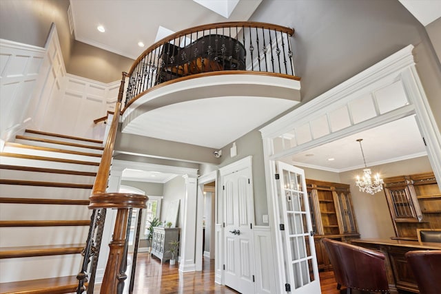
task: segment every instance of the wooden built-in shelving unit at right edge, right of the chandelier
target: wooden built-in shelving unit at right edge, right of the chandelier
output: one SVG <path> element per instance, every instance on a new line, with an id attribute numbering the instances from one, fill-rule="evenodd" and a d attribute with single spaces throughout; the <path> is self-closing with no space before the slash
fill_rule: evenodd
<path id="1" fill-rule="evenodd" d="M 417 240 L 416 229 L 441 228 L 441 191 L 432 172 L 383 181 L 396 238 Z"/>

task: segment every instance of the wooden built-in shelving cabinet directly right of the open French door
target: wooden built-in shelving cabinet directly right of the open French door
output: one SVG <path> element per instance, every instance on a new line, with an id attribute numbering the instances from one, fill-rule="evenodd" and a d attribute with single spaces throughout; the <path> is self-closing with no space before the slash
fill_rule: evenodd
<path id="1" fill-rule="evenodd" d="M 315 233 L 316 255 L 319 269 L 330 269 L 331 264 L 322 238 L 350 242 L 360 238 L 353 213 L 349 185 L 337 182 L 306 180 L 312 229 Z"/>

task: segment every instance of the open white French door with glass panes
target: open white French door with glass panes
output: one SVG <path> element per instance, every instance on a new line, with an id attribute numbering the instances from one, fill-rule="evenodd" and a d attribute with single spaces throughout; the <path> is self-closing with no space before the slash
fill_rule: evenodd
<path id="1" fill-rule="evenodd" d="M 296 294 L 320 293 L 320 280 L 311 215 L 302 169 L 278 162 L 280 180 L 278 198 L 281 213 L 282 238 L 287 292 Z"/>

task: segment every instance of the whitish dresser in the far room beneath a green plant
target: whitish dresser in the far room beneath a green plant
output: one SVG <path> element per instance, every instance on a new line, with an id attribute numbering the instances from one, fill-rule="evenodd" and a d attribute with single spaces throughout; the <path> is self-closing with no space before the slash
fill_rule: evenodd
<path id="1" fill-rule="evenodd" d="M 172 258 L 172 253 L 167 252 L 170 246 L 169 243 L 174 240 L 179 241 L 180 231 L 181 231 L 180 228 L 163 228 L 163 227 L 153 228 L 151 254 L 159 258 L 161 260 L 161 264 Z M 178 253 L 176 253 L 175 258 L 178 258 Z"/>

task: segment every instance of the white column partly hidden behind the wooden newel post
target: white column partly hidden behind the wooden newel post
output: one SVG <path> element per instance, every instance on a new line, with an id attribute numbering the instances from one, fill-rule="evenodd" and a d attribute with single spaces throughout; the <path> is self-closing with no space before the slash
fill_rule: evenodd
<path id="1" fill-rule="evenodd" d="M 107 192 L 118 192 L 121 185 L 121 176 L 123 176 L 123 169 L 111 169 Z M 101 249 L 99 251 L 98 264 L 96 266 L 95 283 L 101 284 L 103 282 L 105 266 L 109 258 L 109 243 L 112 240 L 112 233 L 115 225 L 117 209 L 107 209 L 105 216 L 105 224 L 103 229 L 103 237 L 101 240 Z M 127 283 L 126 283 L 127 284 Z"/>

